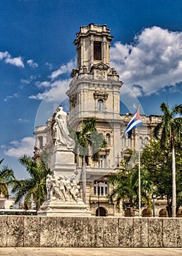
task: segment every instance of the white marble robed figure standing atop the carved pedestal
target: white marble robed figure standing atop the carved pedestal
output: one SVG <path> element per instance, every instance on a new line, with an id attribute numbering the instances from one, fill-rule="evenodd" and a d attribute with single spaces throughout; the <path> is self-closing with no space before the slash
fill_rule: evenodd
<path id="1" fill-rule="evenodd" d="M 69 137 L 69 131 L 67 128 L 67 113 L 64 112 L 63 107 L 59 107 L 55 116 L 55 124 L 53 130 L 56 135 L 55 146 L 67 146 L 68 149 L 74 148 L 74 140 Z"/>

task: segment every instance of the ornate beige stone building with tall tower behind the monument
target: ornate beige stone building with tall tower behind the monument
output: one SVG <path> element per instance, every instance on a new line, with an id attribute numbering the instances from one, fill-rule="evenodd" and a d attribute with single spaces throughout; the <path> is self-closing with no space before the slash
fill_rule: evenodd
<path id="1" fill-rule="evenodd" d="M 122 82 L 118 72 L 110 67 L 110 42 L 113 37 L 105 25 L 89 24 L 81 26 L 76 34 L 74 44 L 77 50 L 77 67 L 72 70 L 72 81 L 69 84 L 69 128 L 79 130 L 85 118 L 96 118 L 96 129 L 107 141 L 107 147 L 99 151 L 99 161 L 88 159 L 86 166 L 86 204 L 91 214 L 102 216 L 123 216 L 115 206 L 107 203 L 110 186 L 107 183 L 108 173 L 115 172 L 122 162 L 128 148 L 138 148 L 148 143 L 153 127 L 160 116 L 142 116 L 138 140 L 137 129 L 132 138 L 124 136 L 126 125 L 132 114 L 120 114 L 120 91 Z M 36 127 L 34 135 L 36 150 L 52 152 L 51 118 L 45 126 Z M 81 162 L 78 162 L 81 167 Z M 82 184 L 80 184 L 82 187 Z M 159 215 L 159 213 L 156 213 Z"/>

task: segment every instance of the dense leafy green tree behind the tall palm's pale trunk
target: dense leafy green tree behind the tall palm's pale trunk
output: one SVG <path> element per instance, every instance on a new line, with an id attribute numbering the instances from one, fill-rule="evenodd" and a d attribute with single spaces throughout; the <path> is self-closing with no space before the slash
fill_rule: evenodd
<path id="1" fill-rule="evenodd" d="M 176 146 L 176 199 L 178 208 L 182 206 L 182 156 L 181 150 Z M 168 216 L 172 217 L 172 157 L 170 148 L 161 148 L 160 140 L 152 139 L 145 147 L 140 159 L 141 167 L 148 170 L 150 179 L 153 181 L 153 193 L 159 199 L 167 200 Z"/>

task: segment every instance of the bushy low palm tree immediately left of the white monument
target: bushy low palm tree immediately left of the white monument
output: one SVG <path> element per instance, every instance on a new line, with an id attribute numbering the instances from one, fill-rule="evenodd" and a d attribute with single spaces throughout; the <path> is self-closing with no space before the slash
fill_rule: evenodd
<path id="1" fill-rule="evenodd" d="M 20 157 L 19 162 L 26 167 L 30 178 L 14 184 L 12 192 L 16 193 L 15 203 L 24 200 L 25 207 L 30 208 L 33 200 L 38 211 L 46 198 L 46 177 L 50 174 L 50 168 L 42 157 L 35 162 L 31 157 L 24 155 Z"/>

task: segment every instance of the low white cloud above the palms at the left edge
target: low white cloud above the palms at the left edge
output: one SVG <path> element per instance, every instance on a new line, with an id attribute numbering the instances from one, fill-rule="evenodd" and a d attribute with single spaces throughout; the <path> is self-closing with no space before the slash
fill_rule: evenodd
<path id="1" fill-rule="evenodd" d="M 21 157 L 23 154 L 32 156 L 34 151 L 35 140 L 33 137 L 25 137 L 21 140 L 13 140 L 10 146 L 1 146 L 1 148 L 6 148 L 4 154 L 9 157 Z"/>

